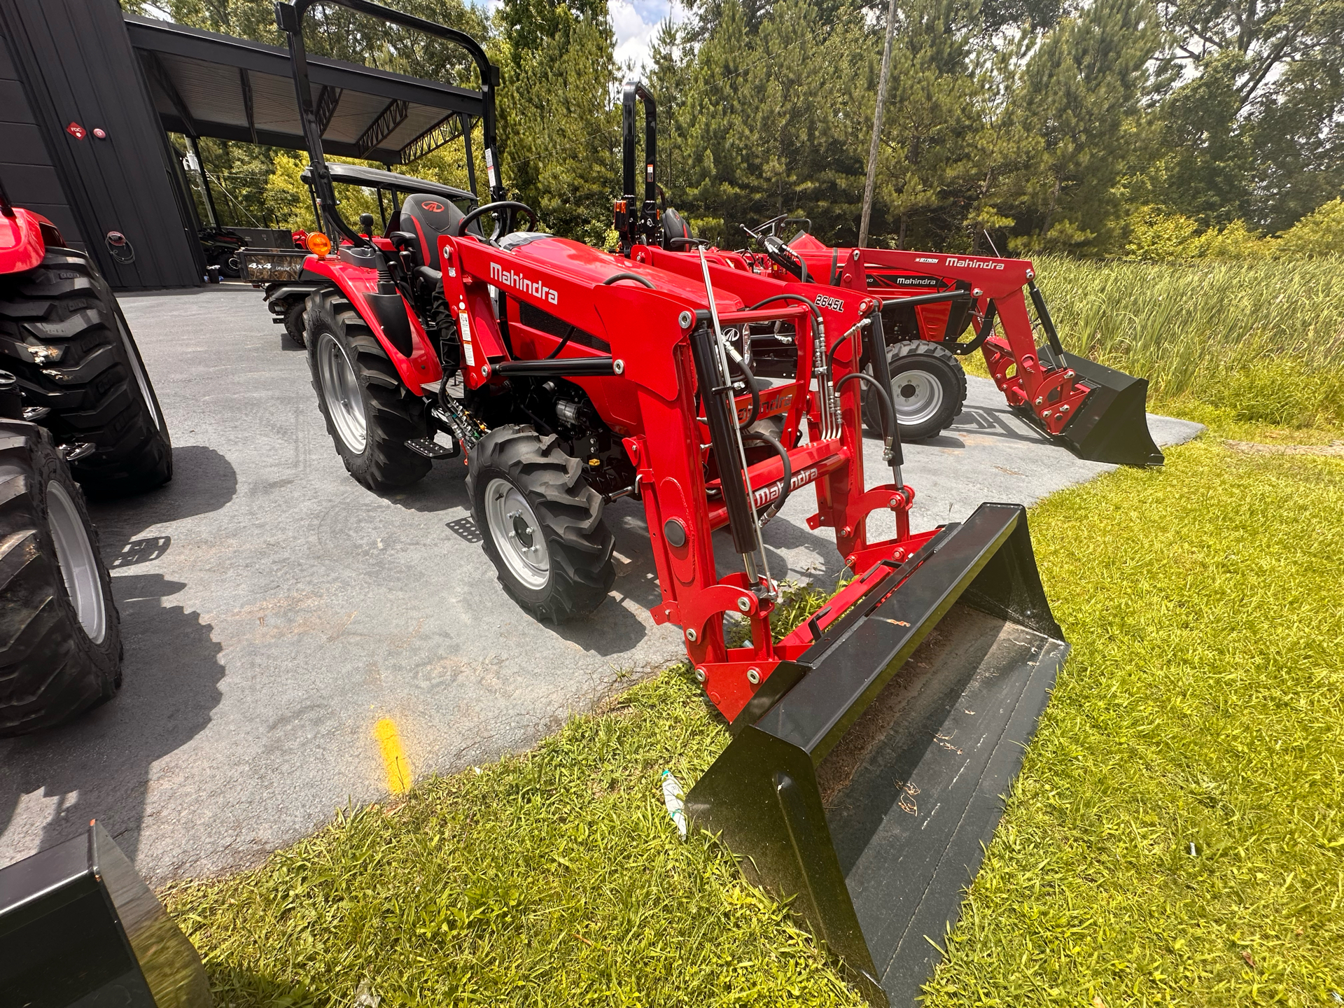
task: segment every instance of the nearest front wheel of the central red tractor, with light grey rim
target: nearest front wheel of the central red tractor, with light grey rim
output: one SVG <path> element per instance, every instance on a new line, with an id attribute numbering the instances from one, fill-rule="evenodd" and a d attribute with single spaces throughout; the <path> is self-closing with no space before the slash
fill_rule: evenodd
<path id="1" fill-rule="evenodd" d="M 512 519 L 516 542 L 526 548 L 540 538 L 544 547 L 546 570 L 532 571 L 534 583 L 524 582 L 509 566 L 504 551 L 519 558 L 520 548 L 497 542 L 497 523 L 489 516 L 489 497 L 504 485 L 513 488 L 531 511 L 530 516 Z M 515 423 L 492 430 L 472 449 L 466 496 L 485 555 L 519 605 L 538 620 L 558 624 L 585 617 L 602 605 L 616 581 L 616 540 L 602 521 L 602 495 L 589 487 L 583 464 L 564 454 L 554 434 L 542 437 Z"/>

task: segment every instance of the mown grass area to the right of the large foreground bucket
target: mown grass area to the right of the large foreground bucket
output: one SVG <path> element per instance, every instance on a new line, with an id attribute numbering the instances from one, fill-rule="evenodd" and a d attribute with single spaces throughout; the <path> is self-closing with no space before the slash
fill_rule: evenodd
<path id="1" fill-rule="evenodd" d="M 1032 532 L 1074 652 L 930 1004 L 1333 1004 L 1344 462 L 1196 442 Z"/>

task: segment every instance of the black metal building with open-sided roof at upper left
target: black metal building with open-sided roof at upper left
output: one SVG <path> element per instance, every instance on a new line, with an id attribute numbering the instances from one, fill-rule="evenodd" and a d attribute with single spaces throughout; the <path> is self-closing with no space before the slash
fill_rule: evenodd
<path id="1" fill-rule="evenodd" d="M 465 138 L 470 171 L 480 91 L 320 58 L 309 75 L 328 155 L 406 165 Z M 203 282 L 168 132 L 304 149 L 288 52 L 116 0 L 0 0 L 0 176 L 121 290 Z"/>

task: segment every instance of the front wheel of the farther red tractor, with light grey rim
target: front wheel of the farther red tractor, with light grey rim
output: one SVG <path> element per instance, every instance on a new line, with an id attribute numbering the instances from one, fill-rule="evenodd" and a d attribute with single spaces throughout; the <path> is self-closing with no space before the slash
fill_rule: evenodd
<path id="1" fill-rule="evenodd" d="M 887 368 L 902 441 L 937 437 L 966 405 L 966 372 L 956 355 L 937 343 L 903 340 L 887 347 Z M 866 370 L 872 374 L 872 368 Z M 863 423 L 872 434 L 882 435 L 882 407 L 867 388 Z"/>

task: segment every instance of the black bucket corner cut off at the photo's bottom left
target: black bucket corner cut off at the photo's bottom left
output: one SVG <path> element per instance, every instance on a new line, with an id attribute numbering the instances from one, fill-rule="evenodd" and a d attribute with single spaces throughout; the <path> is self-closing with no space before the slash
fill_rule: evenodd
<path id="1" fill-rule="evenodd" d="M 191 942 L 90 823 L 0 868 L 0 1004 L 208 1008 L 211 997 Z"/>

